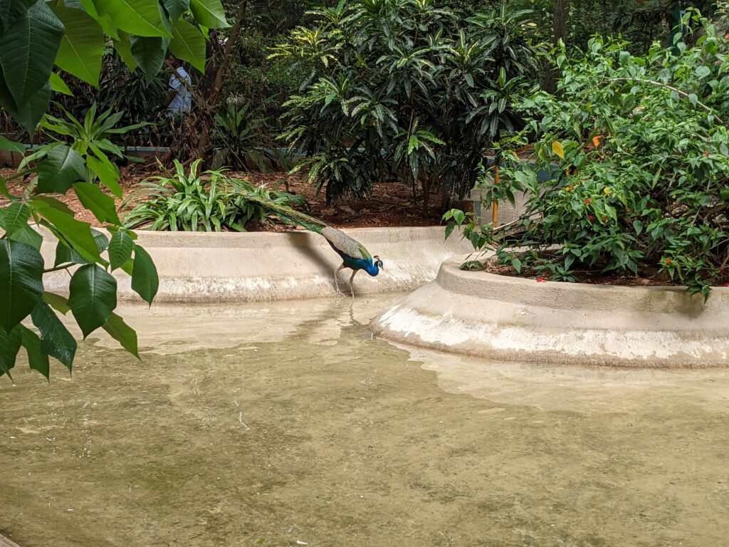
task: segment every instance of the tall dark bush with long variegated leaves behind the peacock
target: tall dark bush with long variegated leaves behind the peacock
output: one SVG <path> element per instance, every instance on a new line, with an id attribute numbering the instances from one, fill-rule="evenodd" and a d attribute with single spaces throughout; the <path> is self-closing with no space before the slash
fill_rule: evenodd
<path id="1" fill-rule="evenodd" d="M 492 142 L 518 128 L 511 104 L 534 70 L 528 12 L 448 4 L 340 2 L 273 53 L 311 68 L 284 104 L 284 138 L 328 202 L 395 173 L 422 185 L 424 206 L 439 182 L 463 195 Z"/>

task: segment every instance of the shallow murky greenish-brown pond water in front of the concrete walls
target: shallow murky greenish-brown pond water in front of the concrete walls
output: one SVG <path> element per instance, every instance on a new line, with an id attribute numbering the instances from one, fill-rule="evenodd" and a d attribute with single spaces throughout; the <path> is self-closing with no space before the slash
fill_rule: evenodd
<path id="1" fill-rule="evenodd" d="M 146 308 L 0 381 L 21 547 L 729 546 L 729 373 L 373 340 L 397 297 Z M 300 543 L 297 543 L 300 542 Z"/>

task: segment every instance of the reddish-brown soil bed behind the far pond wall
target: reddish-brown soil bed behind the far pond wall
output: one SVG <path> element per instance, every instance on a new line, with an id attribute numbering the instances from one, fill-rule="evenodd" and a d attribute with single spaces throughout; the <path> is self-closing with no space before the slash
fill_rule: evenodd
<path id="1" fill-rule="evenodd" d="M 0 176 L 5 178 L 15 174 L 13 169 L 0 169 Z M 141 171 L 134 167 L 122 169 L 120 183 L 124 190 L 125 198 L 134 196 L 135 185 L 147 176 L 158 173 Z M 313 185 L 300 174 L 286 174 L 283 172 L 273 173 L 236 173 L 232 176 L 239 176 L 254 182 L 255 185 L 266 185 L 275 190 L 286 190 L 293 194 L 305 195 L 309 206 L 309 212 L 313 217 L 321 218 L 327 224 L 336 228 L 370 228 L 378 226 L 431 226 L 440 223 L 441 200 L 439 195 L 431 196 L 431 206 L 427 214 L 422 212 L 422 193 L 418 191 L 413 199 L 413 190 L 402 182 L 375 182 L 373 195 L 370 199 L 349 200 L 343 199 L 332 207 L 327 207 L 324 193 L 316 195 Z M 26 187 L 23 180 L 8 182 L 11 193 L 20 195 Z M 90 222 L 93 226 L 101 226 L 101 223 L 85 209 L 74 192 L 66 195 L 53 195 L 53 197 L 66 203 L 76 213 L 76 218 L 83 222 Z M 143 194 L 139 194 L 141 199 Z M 115 198 L 116 199 L 116 198 Z M 122 206 L 122 201 L 116 199 L 117 206 Z M 7 200 L 0 199 L 0 207 L 7 206 Z M 129 206 L 121 209 L 121 215 L 129 210 Z M 288 228 L 268 222 L 266 225 L 252 224 L 247 226 L 252 231 L 284 231 Z"/>

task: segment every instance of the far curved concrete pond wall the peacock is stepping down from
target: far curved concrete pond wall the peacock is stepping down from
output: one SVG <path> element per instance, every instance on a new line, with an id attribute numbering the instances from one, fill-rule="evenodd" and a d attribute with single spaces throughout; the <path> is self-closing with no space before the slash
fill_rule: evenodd
<path id="1" fill-rule="evenodd" d="M 440 263 L 467 252 L 469 244 L 451 238 L 445 228 L 359 228 L 344 230 L 380 255 L 385 270 L 377 277 L 359 272 L 354 278 L 356 295 L 411 291 L 435 279 Z M 315 233 L 203 233 L 137 231 L 141 244 L 157 265 L 159 302 L 232 302 L 284 300 L 334 295 L 335 268 L 340 257 Z M 43 246 L 47 264 L 53 263 L 55 241 Z M 343 291 L 348 290 L 350 270 L 340 272 Z M 130 278 L 114 272 L 120 299 L 138 299 Z M 47 275 L 48 290 L 67 290 L 65 271 Z"/>

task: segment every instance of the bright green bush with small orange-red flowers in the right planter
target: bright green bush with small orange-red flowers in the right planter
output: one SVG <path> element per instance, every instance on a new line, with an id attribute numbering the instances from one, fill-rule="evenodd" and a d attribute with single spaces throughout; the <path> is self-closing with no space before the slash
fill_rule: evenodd
<path id="1" fill-rule="evenodd" d="M 494 244 L 502 263 L 555 280 L 658 270 L 707 298 L 727 279 L 729 42 L 698 12 L 684 25 L 693 46 L 678 35 L 674 48 L 636 57 L 596 37 L 585 55 L 559 55 L 558 97 L 521 104 L 535 163 L 483 181 L 487 206 L 529 193 L 521 233 L 493 239 L 471 224 L 475 247 Z M 555 177 L 539 182 L 539 169 Z"/>

